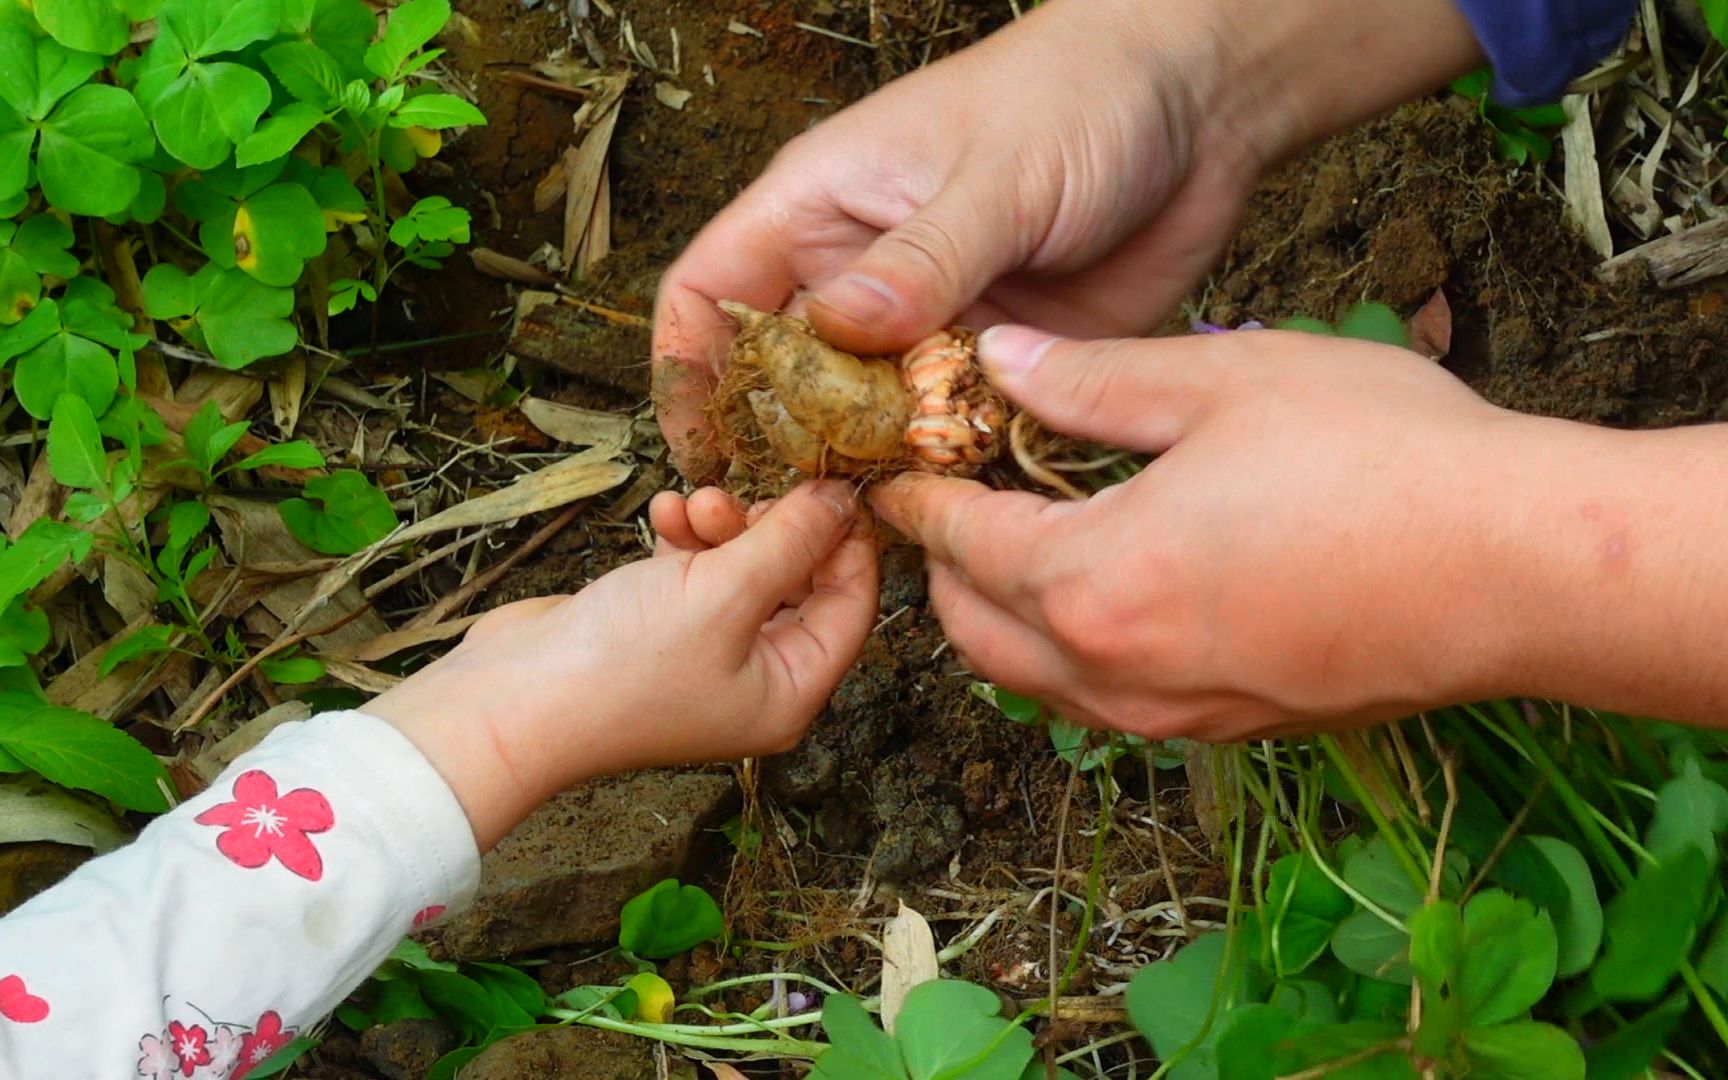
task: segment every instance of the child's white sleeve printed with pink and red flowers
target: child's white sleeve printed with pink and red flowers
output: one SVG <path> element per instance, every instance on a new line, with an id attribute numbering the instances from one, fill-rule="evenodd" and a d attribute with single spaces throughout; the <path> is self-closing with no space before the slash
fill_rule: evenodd
<path id="1" fill-rule="evenodd" d="M 479 864 L 399 731 L 361 712 L 283 724 L 0 919 L 0 1080 L 242 1078 L 463 907 Z"/>

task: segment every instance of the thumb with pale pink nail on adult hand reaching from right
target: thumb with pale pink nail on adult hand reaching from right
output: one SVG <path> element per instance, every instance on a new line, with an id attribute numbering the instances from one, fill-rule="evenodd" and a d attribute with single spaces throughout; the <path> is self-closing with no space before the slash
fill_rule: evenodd
<path id="1" fill-rule="evenodd" d="M 1206 335 L 1071 340 L 1030 327 L 978 335 L 990 382 L 1051 430 L 1163 453 L 1217 396 Z"/>

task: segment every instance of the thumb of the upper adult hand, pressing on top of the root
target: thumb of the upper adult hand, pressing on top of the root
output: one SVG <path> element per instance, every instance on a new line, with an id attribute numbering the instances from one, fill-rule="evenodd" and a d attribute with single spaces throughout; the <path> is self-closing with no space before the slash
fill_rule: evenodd
<path id="1" fill-rule="evenodd" d="M 897 353 L 943 328 L 1025 257 L 1009 225 L 1011 190 L 957 178 L 878 237 L 809 297 L 809 318 L 835 346 Z"/>

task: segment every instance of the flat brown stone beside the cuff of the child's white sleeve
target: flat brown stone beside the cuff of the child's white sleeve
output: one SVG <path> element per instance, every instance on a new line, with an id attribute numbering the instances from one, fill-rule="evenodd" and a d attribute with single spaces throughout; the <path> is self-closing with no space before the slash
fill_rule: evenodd
<path id="1" fill-rule="evenodd" d="M 613 940 L 631 897 L 700 876 L 738 804 L 722 772 L 632 772 L 563 791 L 480 861 L 473 907 L 427 937 L 463 961 Z"/>

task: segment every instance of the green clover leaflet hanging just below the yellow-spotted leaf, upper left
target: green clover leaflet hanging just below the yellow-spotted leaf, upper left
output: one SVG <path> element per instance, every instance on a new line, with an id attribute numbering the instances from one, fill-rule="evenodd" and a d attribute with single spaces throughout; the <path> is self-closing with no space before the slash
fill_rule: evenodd
<path id="1" fill-rule="evenodd" d="M 294 290 L 261 285 L 240 270 L 207 263 L 187 276 L 178 266 L 152 266 L 143 275 L 143 302 L 150 318 L 168 320 L 209 349 L 221 366 L 244 368 L 266 356 L 282 356 L 299 340 Z"/>

